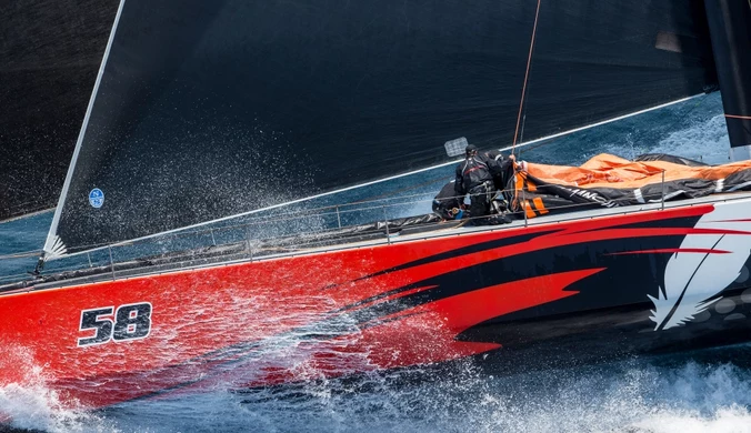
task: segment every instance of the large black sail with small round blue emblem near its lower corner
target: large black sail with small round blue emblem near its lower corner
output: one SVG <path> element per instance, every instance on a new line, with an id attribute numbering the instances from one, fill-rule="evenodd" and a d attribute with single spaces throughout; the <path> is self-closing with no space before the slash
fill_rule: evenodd
<path id="1" fill-rule="evenodd" d="M 535 1 L 127 0 L 48 258 L 511 142 Z M 703 2 L 542 1 L 523 138 L 715 84 Z"/>

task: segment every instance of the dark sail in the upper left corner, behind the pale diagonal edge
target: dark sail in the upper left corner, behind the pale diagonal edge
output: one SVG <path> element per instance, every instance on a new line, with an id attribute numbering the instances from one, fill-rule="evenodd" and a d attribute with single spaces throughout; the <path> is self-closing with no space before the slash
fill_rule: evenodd
<path id="1" fill-rule="evenodd" d="M 3 2 L 0 221 L 54 208 L 118 3 Z"/>

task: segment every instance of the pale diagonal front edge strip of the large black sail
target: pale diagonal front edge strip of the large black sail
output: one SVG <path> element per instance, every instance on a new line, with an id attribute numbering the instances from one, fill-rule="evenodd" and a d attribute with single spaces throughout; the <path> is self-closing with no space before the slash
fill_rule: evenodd
<path id="1" fill-rule="evenodd" d="M 86 129 L 89 125 L 89 119 L 91 118 L 91 111 L 93 111 L 93 104 L 97 99 L 97 92 L 99 91 L 99 84 L 101 83 L 102 75 L 104 74 L 104 68 L 107 67 L 107 59 L 110 56 L 110 50 L 112 48 L 112 42 L 114 41 L 114 33 L 118 30 L 118 23 L 120 22 L 120 16 L 122 13 L 122 8 L 126 4 L 126 0 L 120 0 L 118 6 L 118 12 L 114 16 L 114 22 L 112 23 L 112 31 L 110 32 L 110 38 L 107 41 L 107 48 L 104 48 L 104 56 L 102 56 L 102 63 L 99 67 L 99 72 L 97 73 L 97 80 L 94 81 L 93 91 L 91 92 L 91 98 L 89 99 L 89 105 L 86 109 L 86 115 L 83 117 L 83 123 L 81 124 L 81 131 L 79 131 L 78 140 L 76 141 L 76 149 L 73 150 L 73 157 L 70 160 L 70 167 L 68 167 L 68 173 L 66 174 L 66 181 L 62 184 L 62 190 L 60 191 L 60 199 L 58 200 L 58 207 L 54 210 L 54 216 L 52 216 L 52 223 L 50 224 L 50 231 L 47 233 L 47 240 L 44 241 L 44 248 L 42 249 L 42 255 L 50 253 L 54 255 L 54 251 L 60 251 L 59 244 L 62 243 L 60 238 L 57 235 L 58 223 L 60 222 L 60 214 L 62 213 L 62 208 L 68 197 L 68 189 L 70 188 L 70 182 L 73 179 L 73 172 L 76 171 L 76 162 L 78 160 L 78 154 L 81 151 L 81 145 L 83 143 L 83 137 L 86 135 Z M 44 258 L 44 260 L 47 260 Z"/>

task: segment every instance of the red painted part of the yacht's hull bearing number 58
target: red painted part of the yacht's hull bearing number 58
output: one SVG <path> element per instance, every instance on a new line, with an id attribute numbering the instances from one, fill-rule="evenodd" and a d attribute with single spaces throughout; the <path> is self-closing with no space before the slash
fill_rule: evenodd
<path id="1" fill-rule="evenodd" d="M 96 407 L 228 377 L 234 385 L 267 385 L 493 351 L 504 342 L 458 336 L 540 305 L 560 304 L 565 312 L 563 301 L 575 301 L 578 283 L 612 268 L 598 258 L 668 256 L 699 230 L 692 222 L 713 209 L 703 204 L 8 294 L 0 296 L 0 385 L 28 382 L 33 375 L 23 366 L 43 366 L 48 386 Z M 592 250 L 597 256 L 577 269 L 531 263 L 532 271 L 511 281 L 494 281 L 488 271 L 529 253 L 634 239 L 643 240 L 640 248 Z M 650 246 L 650 239 L 672 243 Z M 459 282 L 447 276 L 460 271 L 468 273 Z M 143 303 L 151 305 L 148 335 L 117 340 L 116 333 L 79 346 L 96 334 L 93 328 L 81 330 L 82 312 L 112 308 L 97 320 L 114 321 L 117 329 L 119 306 Z M 639 309 L 644 321 L 648 310 Z M 123 335 L 136 335 L 138 326 L 123 328 Z"/>

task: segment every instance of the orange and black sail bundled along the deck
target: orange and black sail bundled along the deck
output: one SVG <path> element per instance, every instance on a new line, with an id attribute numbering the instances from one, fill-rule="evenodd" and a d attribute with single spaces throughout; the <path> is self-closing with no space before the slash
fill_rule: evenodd
<path id="1" fill-rule="evenodd" d="M 509 181 L 511 209 L 534 218 L 751 190 L 751 161 L 707 165 L 667 154 L 629 161 L 601 153 L 580 167 L 527 163 Z"/>

